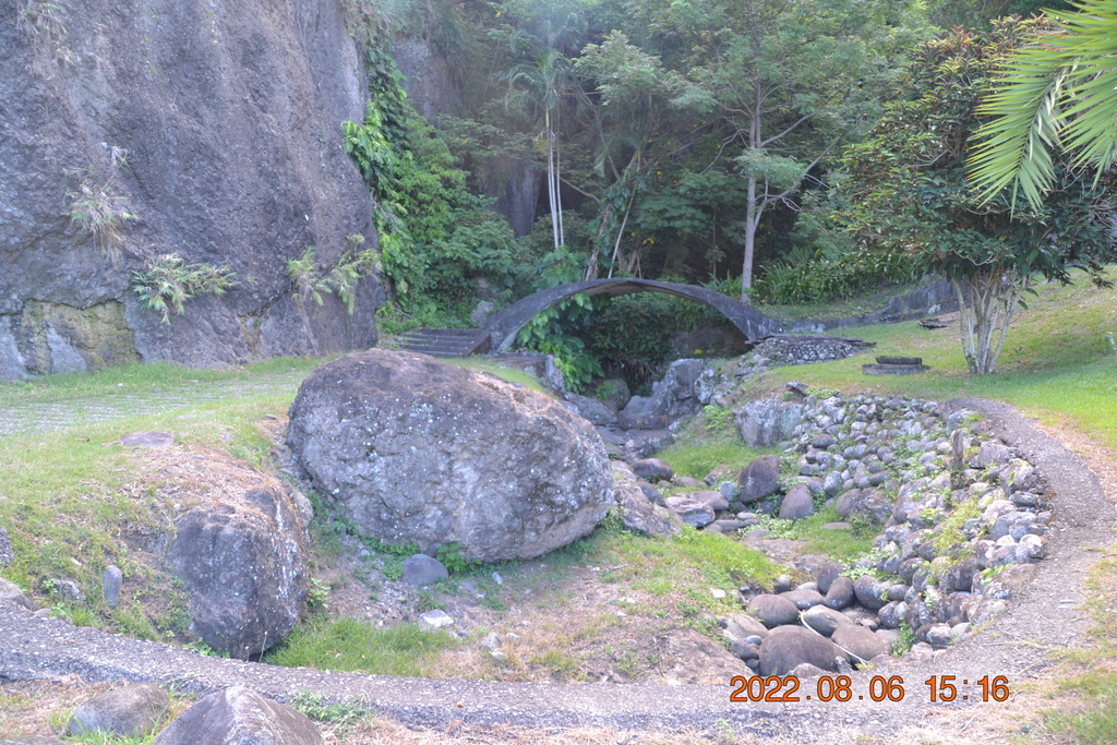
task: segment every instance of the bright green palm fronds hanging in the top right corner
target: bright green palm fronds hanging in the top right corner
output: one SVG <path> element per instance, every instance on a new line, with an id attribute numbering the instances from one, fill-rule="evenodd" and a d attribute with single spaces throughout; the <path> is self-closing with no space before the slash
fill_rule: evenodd
<path id="1" fill-rule="evenodd" d="M 1012 189 L 1038 209 L 1056 183 L 1053 151 L 1098 175 L 1117 157 L 1117 0 L 1049 11 L 1053 32 L 1009 57 L 980 109 L 996 118 L 977 133 L 970 180 L 987 201 Z M 1096 181 L 1095 181 L 1096 183 Z"/>

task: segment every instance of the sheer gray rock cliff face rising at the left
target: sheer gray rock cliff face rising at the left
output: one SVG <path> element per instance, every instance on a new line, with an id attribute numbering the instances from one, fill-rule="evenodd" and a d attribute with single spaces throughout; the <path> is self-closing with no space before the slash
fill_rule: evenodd
<path id="1" fill-rule="evenodd" d="M 375 247 L 365 96 L 337 0 L 0 0 L 0 379 L 375 344 L 374 276 L 350 315 L 287 275 Z M 166 254 L 235 284 L 164 324 L 132 284 Z"/>

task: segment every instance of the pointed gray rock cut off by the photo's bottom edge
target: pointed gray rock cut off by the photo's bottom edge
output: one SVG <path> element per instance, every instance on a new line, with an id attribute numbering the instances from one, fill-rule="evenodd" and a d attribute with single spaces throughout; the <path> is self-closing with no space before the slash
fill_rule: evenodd
<path id="1" fill-rule="evenodd" d="M 155 745 L 319 745 L 314 723 L 240 686 L 210 694 L 171 723 Z"/>

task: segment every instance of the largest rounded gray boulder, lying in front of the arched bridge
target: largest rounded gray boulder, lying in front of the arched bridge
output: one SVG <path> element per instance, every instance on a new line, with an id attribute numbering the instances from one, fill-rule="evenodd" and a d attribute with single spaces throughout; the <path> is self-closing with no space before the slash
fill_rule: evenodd
<path id="1" fill-rule="evenodd" d="M 590 533 L 613 502 L 593 427 L 553 399 L 422 354 L 370 350 L 318 367 L 287 442 L 365 536 L 532 558 Z"/>

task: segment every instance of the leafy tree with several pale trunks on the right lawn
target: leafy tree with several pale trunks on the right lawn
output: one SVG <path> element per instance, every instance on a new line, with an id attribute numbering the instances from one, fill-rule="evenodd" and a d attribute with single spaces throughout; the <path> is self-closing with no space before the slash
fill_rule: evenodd
<path id="1" fill-rule="evenodd" d="M 966 180 L 983 85 L 1033 21 L 1005 19 L 986 34 L 954 31 L 915 52 L 900 97 L 844 159 L 852 206 L 842 219 L 861 245 L 905 251 L 954 283 L 970 370 L 991 373 L 1030 278 L 1067 280 L 1080 266 L 1100 277 L 1113 257 L 1105 206 L 1069 169 L 1042 210 L 1014 212 L 1005 195 L 982 201 Z"/>

